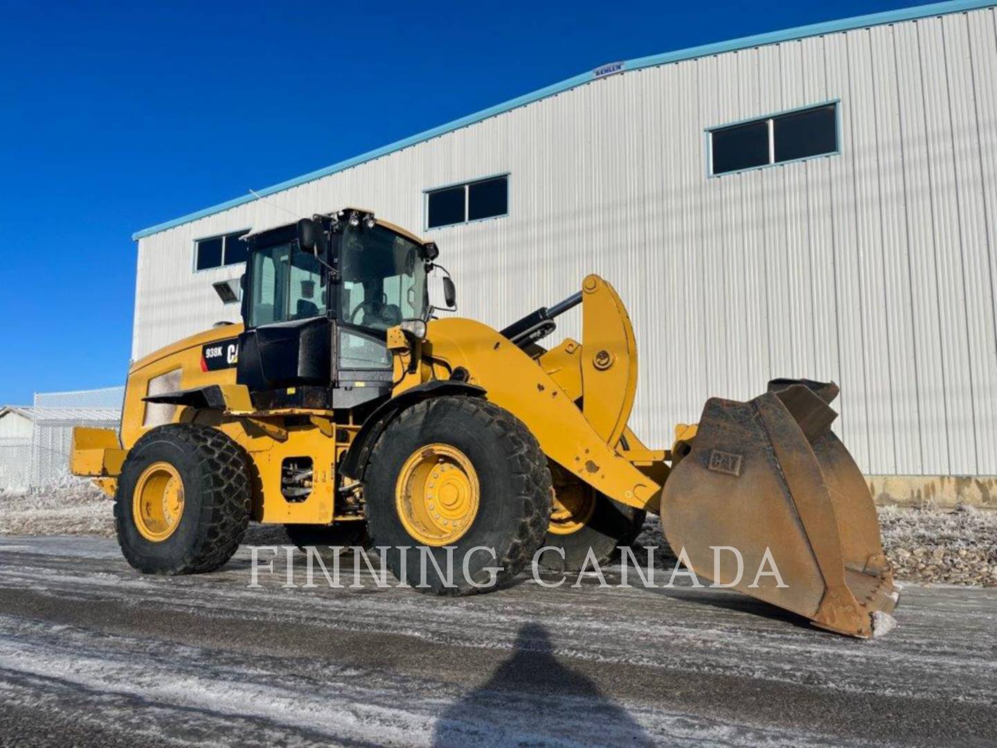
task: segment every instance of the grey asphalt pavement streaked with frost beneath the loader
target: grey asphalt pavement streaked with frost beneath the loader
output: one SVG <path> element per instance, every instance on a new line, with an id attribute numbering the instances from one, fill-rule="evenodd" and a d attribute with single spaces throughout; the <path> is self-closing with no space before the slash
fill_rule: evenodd
<path id="1" fill-rule="evenodd" d="M 907 586 L 861 641 L 720 589 L 452 599 L 280 559 L 250 587 L 246 548 L 161 577 L 0 537 L 0 745 L 997 745 L 997 589 Z"/>

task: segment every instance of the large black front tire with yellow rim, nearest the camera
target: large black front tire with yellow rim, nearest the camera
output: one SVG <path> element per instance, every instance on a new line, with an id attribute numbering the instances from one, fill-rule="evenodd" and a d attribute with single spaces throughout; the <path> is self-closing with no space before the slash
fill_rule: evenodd
<path id="1" fill-rule="evenodd" d="M 444 466 L 446 475 L 443 480 L 425 475 L 420 485 L 426 492 L 417 496 L 407 477 L 421 470 L 412 467 L 418 466 L 420 459 L 426 461 L 432 475 L 436 475 L 438 465 Z M 505 585 L 532 561 L 543 543 L 552 496 L 546 459 L 519 419 L 486 400 L 444 396 L 403 411 L 378 440 L 365 476 L 372 545 L 389 547 L 382 561 L 400 581 L 420 591 L 459 595 Z M 458 519 L 449 527 L 460 526 L 461 530 L 450 530 L 451 537 L 444 527 L 446 517 L 439 520 L 441 525 L 432 519 L 433 501 L 448 501 L 442 493 L 448 476 L 457 476 L 451 487 L 454 505 L 448 507 L 457 506 L 458 495 L 462 497 L 460 506 L 474 507 L 473 513 L 469 510 L 464 515 L 455 510 Z M 432 488 L 433 480 L 439 481 L 436 489 Z M 433 491 L 439 491 L 439 496 Z M 412 509 L 419 502 L 425 502 L 430 512 L 422 519 Z M 438 535 L 428 535 L 431 533 Z M 440 540 L 431 543 L 427 538 Z M 495 558 L 489 552 L 476 551 L 481 547 L 494 550 Z M 447 585 L 448 579 L 437 572 L 428 557 L 425 564 L 420 562 L 427 554 L 446 574 L 448 548 L 453 549 L 452 585 Z M 490 567 L 500 567 L 494 584 Z"/>

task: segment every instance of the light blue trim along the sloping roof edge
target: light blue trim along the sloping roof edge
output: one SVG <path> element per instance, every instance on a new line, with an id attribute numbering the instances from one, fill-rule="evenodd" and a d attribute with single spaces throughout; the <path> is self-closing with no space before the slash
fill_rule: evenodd
<path id="1" fill-rule="evenodd" d="M 432 130 L 427 130 L 418 135 L 414 135 L 411 138 L 406 138 L 401 141 L 396 141 L 383 148 L 375 149 L 374 151 L 368 151 L 366 154 L 361 154 L 352 159 L 347 159 L 346 161 L 341 161 L 338 164 L 333 164 L 331 167 L 326 167 L 325 169 L 319 169 L 315 172 L 310 172 L 301 177 L 296 177 L 293 180 L 287 180 L 286 182 L 281 182 L 279 185 L 274 185 L 273 187 L 266 187 L 264 189 L 257 189 L 256 193 L 260 196 L 266 196 L 273 194 L 274 192 L 279 192 L 290 187 L 298 187 L 299 185 L 304 185 L 307 182 L 312 182 L 314 180 L 321 179 L 323 177 L 328 177 L 329 175 L 336 174 L 337 172 L 342 172 L 351 167 L 356 167 L 368 161 L 373 161 L 374 159 L 379 159 L 382 156 L 387 156 L 388 154 L 394 153 L 395 151 L 401 151 L 404 148 L 410 146 L 415 146 L 423 141 L 428 141 L 433 138 L 437 138 L 441 135 L 446 135 L 455 130 L 460 130 L 461 128 L 466 128 L 469 125 L 474 125 L 481 122 L 482 120 L 487 120 L 490 117 L 495 117 L 509 110 L 516 109 L 518 107 L 523 107 L 527 104 L 532 104 L 533 102 L 539 101 L 540 99 L 546 99 L 547 97 L 554 96 L 555 94 L 568 91 L 577 86 L 581 86 L 585 83 L 590 83 L 591 81 L 598 80 L 600 78 L 608 78 L 613 74 L 622 73 L 630 70 L 639 70 L 641 68 L 653 67 L 655 65 L 664 65 L 667 63 L 676 63 L 683 60 L 691 60 L 697 57 L 706 57 L 708 55 L 717 55 L 723 52 L 734 52 L 741 49 L 749 49 L 751 47 L 759 47 L 766 44 L 777 44 L 779 42 L 794 41 L 797 39 L 806 39 L 812 36 L 821 36 L 822 34 L 832 34 L 840 31 L 849 31 L 852 29 L 861 29 L 868 26 L 879 26 L 882 24 L 895 23 L 898 21 L 912 21 L 918 18 L 929 18 L 931 16 L 946 15 L 949 13 L 961 13 L 969 10 L 979 10 L 981 8 L 989 8 L 997 5 L 997 0 L 950 0 L 949 2 L 943 3 L 933 3 L 931 5 L 918 5 L 912 8 L 902 8 L 900 10 L 885 11 L 883 13 L 872 13 L 865 16 L 856 16 L 853 18 L 845 18 L 839 21 L 828 21 L 826 23 L 817 23 L 810 26 L 799 26 L 794 29 L 786 29 L 783 31 L 773 31 L 766 34 L 758 34 L 756 36 L 742 37 L 740 39 L 733 39 L 727 42 L 718 42 L 715 44 L 705 44 L 699 47 L 690 47 L 688 49 L 678 50 L 676 52 L 665 52 L 660 55 L 651 55 L 649 57 L 640 57 L 636 60 L 627 60 L 623 63 L 613 63 L 609 66 L 600 66 L 593 71 L 587 73 L 582 73 L 581 75 L 574 76 L 573 78 L 568 78 L 566 81 L 561 81 L 559 83 L 546 86 L 545 88 L 539 89 L 538 91 L 533 91 L 530 94 L 525 94 L 523 96 L 511 99 L 502 104 L 498 104 L 495 107 L 490 107 L 489 109 L 484 109 L 481 112 L 476 112 L 473 115 L 468 115 L 467 117 L 462 117 L 459 120 L 454 120 L 446 125 L 441 125 L 439 127 L 433 128 Z M 619 66 L 618 68 L 616 66 Z M 608 74 L 608 75 L 607 75 Z M 167 228 L 173 228 L 182 223 L 189 223 L 191 220 L 197 220 L 198 218 L 203 218 L 208 215 L 212 215 L 222 210 L 227 210 L 232 207 L 237 207 L 238 205 L 244 205 L 247 202 L 252 202 L 256 197 L 252 194 L 246 194 L 241 197 L 236 197 L 230 199 L 226 202 L 218 203 L 217 205 L 212 205 L 211 207 L 205 207 L 202 210 L 197 210 L 186 215 L 181 215 L 173 220 L 167 220 L 165 223 L 158 223 L 155 226 L 149 228 L 144 228 L 141 231 L 136 231 L 132 234 L 133 239 L 141 239 L 144 236 L 149 236 L 154 233 L 159 233 L 160 231 L 165 231 Z"/>

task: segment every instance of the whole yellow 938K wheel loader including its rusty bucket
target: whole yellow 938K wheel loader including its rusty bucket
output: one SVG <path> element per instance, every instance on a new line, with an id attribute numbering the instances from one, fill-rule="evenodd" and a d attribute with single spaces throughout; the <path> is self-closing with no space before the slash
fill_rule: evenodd
<path id="1" fill-rule="evenodd" d="M 636 344 L 602 278 L 496 330 L 437 318 L 427 276 L 445 273 L 448 311 L 455 286 L 436 244 L 369 211 L 245 240 L 243 323 L 137 361 L 120 434 L 74 433 L 73 472 L 115 497 L 136 568 L 217 568 L 254 520 L 300 545 L 388 547 L 400 579 L 464 594 L 543 546 L 556 569 L 605 561 L 653 512 L 699 576 L 817 625 L 869 636 L 895 604 L 869 492 L 831 432 L 834 385 L 711 399 L 650 449 L 627 427 Z M 577 306 L 581 341 L 542 346 Z M 448 556 L 463 574 L 443 574 Z"/>

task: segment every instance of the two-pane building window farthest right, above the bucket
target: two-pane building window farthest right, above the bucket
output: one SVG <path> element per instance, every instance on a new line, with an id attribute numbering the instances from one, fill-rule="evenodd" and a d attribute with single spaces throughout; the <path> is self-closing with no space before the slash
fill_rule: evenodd
<path id="1" fill-rule="evenodd" d="M 743 172 L 838 152 L 837 103 L 708 131 L 710 174 Z"/>

